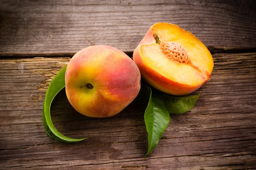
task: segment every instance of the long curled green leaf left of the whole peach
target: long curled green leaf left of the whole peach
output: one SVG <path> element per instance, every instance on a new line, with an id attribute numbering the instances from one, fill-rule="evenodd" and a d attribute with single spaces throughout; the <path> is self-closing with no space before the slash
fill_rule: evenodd
<path id="1" fill-rule="evenodd" d="M 46 96 L 44 99 L 43 106 L 43 124 L 46 133 L 52 138 L 60 142 L 79 142 L 87 138 L 73 139 L 66 137 L 58 132 L 58 130 L 53 126 L 52 119 L 50 115 L 51 103 L 54 97 L 58 94 L 61 89 L 65 87 L 65 73 L 67 66 L 61 69 L 58 74 L 50 82 L 49 88 L 47 89 Z"/>

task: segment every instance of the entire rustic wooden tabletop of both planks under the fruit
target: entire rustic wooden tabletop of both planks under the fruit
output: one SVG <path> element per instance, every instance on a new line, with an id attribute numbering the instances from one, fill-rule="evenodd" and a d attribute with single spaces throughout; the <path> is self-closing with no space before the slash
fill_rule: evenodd
<path id="1" fill-rule="evenodd" d="M 90 45 L 132 56 L 148 28 L 169 22 L 191 31 L 213 54 L 211 80 L 191 111 L 171 115 L 155 150 L 147 151 L 138 96 L 106 119 L 82 116 L 65 91 L 51 113 L 64 135 L 42 125 L 47 87 L 70 57 Z M 1 0 L 0 169 L 256 169 L 256 3 L 253 0 Z"/>

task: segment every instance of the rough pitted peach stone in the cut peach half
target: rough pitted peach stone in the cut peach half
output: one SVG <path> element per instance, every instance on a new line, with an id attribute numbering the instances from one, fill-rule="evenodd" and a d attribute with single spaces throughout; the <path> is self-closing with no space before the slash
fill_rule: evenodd
<path id="1" fill-rule="evenodd" d="M 169 59 L 180 63 L 190 62 L 189 54 L 186 49 L 176 42 L 161 42 L 160 49 Z"/>

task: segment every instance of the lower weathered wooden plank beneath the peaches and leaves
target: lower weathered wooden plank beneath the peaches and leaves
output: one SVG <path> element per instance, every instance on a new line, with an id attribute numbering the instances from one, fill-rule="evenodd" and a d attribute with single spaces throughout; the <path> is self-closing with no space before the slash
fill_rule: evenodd
<path id="1" fill-rule="evenodd" d="M 44 131 L 41 110 L 51 79 L 70 58 L 0 60 L 0 169 L 252 170 L 256 169 L 256 53 L 214 54 L 211 80 L 191 111 L 171 115 L 151 156 L 138 96 L 106 119 L 77 113 L 62 90 L 52 121 L 64 144 Z"/>

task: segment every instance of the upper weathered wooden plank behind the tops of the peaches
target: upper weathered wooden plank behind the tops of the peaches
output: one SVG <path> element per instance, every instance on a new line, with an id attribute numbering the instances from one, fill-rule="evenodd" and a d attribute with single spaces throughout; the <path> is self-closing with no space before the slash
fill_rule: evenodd
<path id="1" fill-rule="evenodd" d="M 211 48 L 256 48 L 254 0 L 2 0 L 0 55 L 75 54 L 89 45 L 134 51 L 157 22 Z"/>

